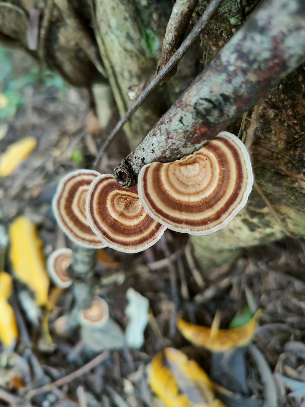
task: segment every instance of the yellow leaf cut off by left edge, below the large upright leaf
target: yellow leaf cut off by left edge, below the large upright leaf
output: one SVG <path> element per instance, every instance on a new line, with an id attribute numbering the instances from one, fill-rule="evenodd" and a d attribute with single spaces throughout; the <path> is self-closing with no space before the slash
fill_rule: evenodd
<path id="1" fill-rule="evenodd" d="M 0 273 L 0 340 L 5 347 L 13 346 L 18 336 L 14 311 L 7 302 L 11 291 L 11 276 L 2 271 Z"/>

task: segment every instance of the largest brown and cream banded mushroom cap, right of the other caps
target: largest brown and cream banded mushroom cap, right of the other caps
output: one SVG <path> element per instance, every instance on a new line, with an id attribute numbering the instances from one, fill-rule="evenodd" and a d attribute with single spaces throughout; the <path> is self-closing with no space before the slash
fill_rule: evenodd
<path id="1" fill-rule="evenodd" d="M 138 177 L 139 199 L 148 214 L 192 235 L 227 225 L 245 206 L 252 185 L 246 147 L 227 131 L 181 160 L 145 165 Z"/>

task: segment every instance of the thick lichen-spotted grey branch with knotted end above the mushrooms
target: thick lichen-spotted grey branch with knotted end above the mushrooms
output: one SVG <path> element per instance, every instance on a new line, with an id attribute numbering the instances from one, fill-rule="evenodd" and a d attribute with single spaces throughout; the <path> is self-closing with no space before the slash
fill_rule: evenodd
<path id="1" fill-rule="evenodd" d="M 264 2 L 115 168 L 115 178 L 130 186 L 145 164 L 198 150 L 304 61 L 303 0 Z"/>

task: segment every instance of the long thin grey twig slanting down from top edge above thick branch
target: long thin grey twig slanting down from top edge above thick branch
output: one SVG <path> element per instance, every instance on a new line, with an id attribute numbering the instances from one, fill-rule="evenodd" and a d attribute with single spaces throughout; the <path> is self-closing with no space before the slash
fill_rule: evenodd
<path id="1" fill-rule="evenodd" d="M 105 142 L 102 144 L 96 159 L 94 160 L 93 167 L 96 168 L 100 158 L 102 157 L 105 149 L 109 146 L 112 142 L 118 131 L 122 129 L 124 124 L 131 118 L 131 116 L 136 112 L 136 110 L 144 103 L 145 99 L 156 89 L 158 88 L 159 84 L 163 81 L 170 79 L 170 73 L 172 69 L 178 64 L 181 58 L 185 55 L 185 53 L 190 49 L 190 46 L 195 41 L 195 39 L 202 33 L 203 29 L 209 24 L 211 18 L 213 17 L 214 13 L 222 3 L 222 0 L 212 0 L 210 4 L 207 6 L 207 9 L 203 13 L 203 15 L 198 20 L 197 24 L 194 26 L 190 34 L 186 37 L 183 41 L 182 45 L 179 49 L 174 53 L 174 55 L 170 58 L 166 66 L 157 74 L 155 79 L 144 89 L 142 94 L 137 98 L 133 106 L 129 109 L 128 112 L 122 117 L 122 119 L 117 123 L 115 128 L 111 131 Z"/>

